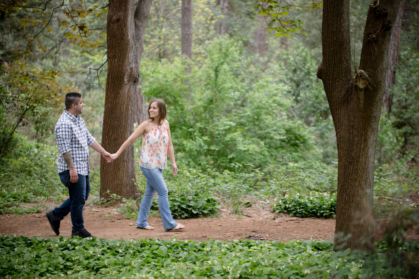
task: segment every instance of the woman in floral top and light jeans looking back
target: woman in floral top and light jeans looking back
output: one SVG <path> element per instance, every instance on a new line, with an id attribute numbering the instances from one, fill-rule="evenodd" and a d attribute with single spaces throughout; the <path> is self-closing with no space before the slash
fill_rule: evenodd
<path id="1" fill-rule="evenodd" d="M 166 104 L 162 99 L 154 98 L 151 100 L 150 105 L 148 105 L 148 120 L 145 120 L 135 129 L 134 133 L 129 136 L 119 150 L 111 155 L 112 159 L 109 159 L 108 162 L 118 158 L 131 143 L 142 136 L 140 168 L 146 178 L 146 187 L 140 212 L 138 213 L 137 228 L 154 230 L 147 223 L 147 218 L 151 203 L 153 202 L 153 196 L 157 191 L 163 228 L 166 231 L 184 230 L 184 225 L 173 220 L 167 198 L 168 190 L 163 179 L 163 169 L 166 169 L 167 153 L 169 153 L 169 158 L 172 163 L 172 174 L 176 175 L 178 173 L 170 137 L 169 123 L 164 118 L 166 118 Z"/>

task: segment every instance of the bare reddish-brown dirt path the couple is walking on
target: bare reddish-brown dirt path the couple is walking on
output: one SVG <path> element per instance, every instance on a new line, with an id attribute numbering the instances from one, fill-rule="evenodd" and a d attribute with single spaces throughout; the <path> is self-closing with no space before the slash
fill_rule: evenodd
<path id="1" fill-rule="evenodd" d="M 51 209 L 57 206 L 52 202 L 45 202 L 45 205 Z M 163 230 L 160 216 L 153 215 L 148 219 L 148 223 L 155 229 L 143 230 L 136 228 L 136 220 L 124 219 L 123 214 L 117 212 L 118 207 L 118 205 L 111 207 L 86 205 L 83 214 L 85 228 L 92 235 L 104 239 L 177 237 L 182 240 L 196 241 L 208 241 L 210 238 L 223 241 L 244 238 L 267 241 L 308 240 L 310 238 L 332 240 L 335 230 L 335 219 L 295 218 L 287 214 L 271 212 L 268 207 L 261 207 L 257 204 L 243 209 L 242 215 L 232 214 L 228 207 L 223 207 L 217 218 L 176 220 L 186 225 L 185 230 L 177 232 Z M 48 223 L 45 212 L 46 210 L 21 216 L 0 215 L 0 235 L 57 237 Z M 410 239 L 419 240 L 419 235 L 413 229 L 408 232 L 408 235 Z M 71 236 L 70 215 L 61 221 L 60 236 Z"/>

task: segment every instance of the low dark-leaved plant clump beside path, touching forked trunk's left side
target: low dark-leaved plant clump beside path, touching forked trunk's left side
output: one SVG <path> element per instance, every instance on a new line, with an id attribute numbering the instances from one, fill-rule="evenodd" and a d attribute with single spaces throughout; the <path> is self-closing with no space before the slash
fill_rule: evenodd
<path id="1" fill-rule="evenodd" d="M 336 218 L 336 194 L 310 192 L 310 195 L 285 195 L 273 205 L 274 212 L 290 216 Z"/>

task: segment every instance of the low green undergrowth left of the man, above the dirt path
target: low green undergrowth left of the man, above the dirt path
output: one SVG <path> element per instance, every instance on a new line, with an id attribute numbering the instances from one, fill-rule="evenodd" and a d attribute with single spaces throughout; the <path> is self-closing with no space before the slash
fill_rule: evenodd
<path id="1" fill-rule="evenodd" d="M 57 151 L 44 149 L 45 146 L 42 148 L 18 133 L 14 139 L 19 148 L 5 156 L 0 165 L 0 214 L 38 212 L 42 207 L 39 204 L 41 200 L 59 200 L 67 190 L 57 175 Z M 24 202 L 38 204 L 29 208 L 20 207 Z"/>

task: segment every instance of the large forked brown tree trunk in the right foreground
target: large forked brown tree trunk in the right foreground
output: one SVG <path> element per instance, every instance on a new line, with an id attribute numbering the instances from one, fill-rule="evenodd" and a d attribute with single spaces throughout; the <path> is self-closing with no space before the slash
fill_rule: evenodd
<path id="1" fill-rule="evenodd" d="M 335 250 L 373 242 L 373 182 L 378 122 L 391 27 L 400 0 L 373 0 L 365 23 L 360 69 L 351 70 L 349 0 L 323 2 L 322 79 L 336 129 L 338 189 Z M 345 241 L 345 238 L 346 241 Z"/>

